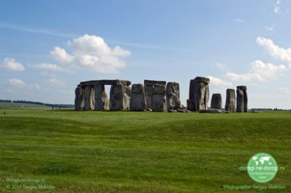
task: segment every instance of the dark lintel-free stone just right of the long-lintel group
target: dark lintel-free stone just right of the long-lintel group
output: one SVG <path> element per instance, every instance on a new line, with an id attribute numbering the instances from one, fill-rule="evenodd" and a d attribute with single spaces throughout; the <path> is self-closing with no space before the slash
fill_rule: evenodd
<path id="1" fill-rule="evenodd" d="M 130 96 L 130 110 L 143 111 L 146 109 L 146 96 L 141 83 L 132 84 Z"/>

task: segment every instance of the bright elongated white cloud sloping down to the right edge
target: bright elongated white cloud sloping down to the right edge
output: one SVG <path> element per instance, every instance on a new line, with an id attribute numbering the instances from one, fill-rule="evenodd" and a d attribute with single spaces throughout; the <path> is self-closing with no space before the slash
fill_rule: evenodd
<path id="1" fill-rule="evenodd" d="M 257 37 L 257 43 L 261 47 L 264 47 L 266 51 L 268 51 L 268 53 L 272 55 L 272 57 L 274 57 L 275 59 L 291 62 L 291 48 L 283 49 L 274 44 L 272 40 L 262 37 Z"/>

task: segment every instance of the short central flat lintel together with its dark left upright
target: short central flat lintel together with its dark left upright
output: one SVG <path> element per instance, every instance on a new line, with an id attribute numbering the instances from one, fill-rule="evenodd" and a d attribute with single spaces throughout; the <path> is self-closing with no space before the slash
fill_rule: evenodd
<path id="1" fill-rule="evenodd" d="M 154 86 L 158 84 L 165 86 L 165 83 L 166 83 L 165 81 L 154 81 L 154 80 L 147 80 L 147 79 L 143 81 L 147 109 L 152 109 L 152 94 L 154 91 Z"/>

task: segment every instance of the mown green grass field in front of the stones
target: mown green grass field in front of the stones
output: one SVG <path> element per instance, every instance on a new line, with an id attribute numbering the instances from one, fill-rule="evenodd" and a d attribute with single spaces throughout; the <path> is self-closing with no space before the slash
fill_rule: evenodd
<path id="1" fill-rule="evenodd" d="M 0 192 L 291 192 L 291 112 L 0 109 L 0 120 Z M 286 188 L 225 190 L 266 185 L 240 170 L 259 152 L 285 169 L 266 184 Z M 40 184 L 51 186 L 30 190 Z"/>

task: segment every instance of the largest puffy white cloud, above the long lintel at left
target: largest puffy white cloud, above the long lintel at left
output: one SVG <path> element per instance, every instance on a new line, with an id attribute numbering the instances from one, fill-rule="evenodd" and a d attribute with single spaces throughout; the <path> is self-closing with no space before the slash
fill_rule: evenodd
<path id="1" fill-rule="evenodd" d="M 130 51 L 117 46 L 111 49 L 103 38 L 85 34 L 67 42 L 71 54 L 65 49 L 54 47 L 51 56 L 62 65 L 70 64 L 77 68 L 93 69 L 100 73 L 117 73 L 126 63 L 121 57 L 130 55 Z"/>

